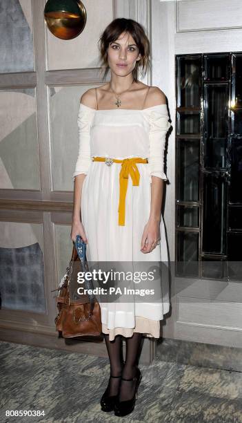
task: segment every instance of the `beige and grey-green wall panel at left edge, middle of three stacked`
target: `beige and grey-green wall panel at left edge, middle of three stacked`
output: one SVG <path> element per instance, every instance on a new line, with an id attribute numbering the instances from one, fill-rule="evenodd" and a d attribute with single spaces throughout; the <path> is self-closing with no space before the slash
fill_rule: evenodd
<path id="1" fill-rule="evenodd" d="M 0 90 L 0 188 L 40 189 L 35 88 Z"/>

